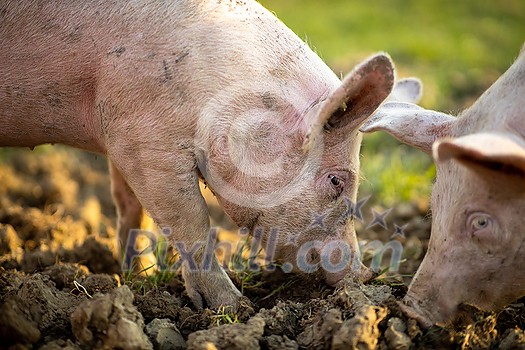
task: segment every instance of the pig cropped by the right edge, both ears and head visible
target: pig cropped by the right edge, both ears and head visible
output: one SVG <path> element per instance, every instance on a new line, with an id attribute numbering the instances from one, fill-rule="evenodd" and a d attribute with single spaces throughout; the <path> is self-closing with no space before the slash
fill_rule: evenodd
<path id="1" fill-rule="evenodd" d="M 391 103 L 362 128 L 433 151 L 432 233 L 403 301 L 424 326 L 461 303 L 498 310 L 525 296 L 524 48 L 457 119 Z"/>

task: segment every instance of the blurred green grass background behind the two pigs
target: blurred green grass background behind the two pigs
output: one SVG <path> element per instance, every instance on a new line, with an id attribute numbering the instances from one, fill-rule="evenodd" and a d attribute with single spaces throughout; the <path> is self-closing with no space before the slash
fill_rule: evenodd
<path id="1" fill-rule="evenodd" d="M 260 0 L 344 75 L 377 51 L 398 77 L 423 81 L 425 108 L 456 113 L 514 61 L 525 41 L 524 0 Z M 366 135 L 360 197 L 428 202 L 432 160 L 385 133 Z"/>

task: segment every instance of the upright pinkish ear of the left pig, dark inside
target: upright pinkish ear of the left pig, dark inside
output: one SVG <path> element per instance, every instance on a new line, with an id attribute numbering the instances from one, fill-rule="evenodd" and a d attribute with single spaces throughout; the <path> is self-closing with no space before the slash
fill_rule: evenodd
<path id="1" fill-rule="evenodd" d="M 388 97 L 394 81 L 394 66 L 386 54 L 361 63 L 305 117 L 303 148 L 308 149 L 323 130 L 358 128 Z"/>

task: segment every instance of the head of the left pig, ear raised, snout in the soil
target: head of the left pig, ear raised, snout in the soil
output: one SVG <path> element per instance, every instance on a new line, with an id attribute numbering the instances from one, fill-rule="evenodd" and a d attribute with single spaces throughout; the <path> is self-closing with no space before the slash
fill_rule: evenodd
<path id="1" fill-rule="evenodd" d="M 352 222 L 359 127 L 391 93 L 394 69 L 380 54 L 342 82 L 328 78 L 257 83 L 229 97 L 224 114 L 207 112 L 219 119 L 198 128 L 199 168 L 226 213 L 262 236 L 267 255 L 334 285 L 349 273 L 373 275 Z M 402 89 L 419 94 L 418 83 Z"/>

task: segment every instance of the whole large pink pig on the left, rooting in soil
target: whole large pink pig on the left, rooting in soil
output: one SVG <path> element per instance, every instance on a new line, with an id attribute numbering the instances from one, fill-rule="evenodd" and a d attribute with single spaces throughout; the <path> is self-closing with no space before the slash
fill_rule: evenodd
<path id="1" fill-rule="evenodd" d="M 125 262 L 144 208 L 181 252 L 195 305 L 237 304 L 206 243 L 201 179 L 239 226 L 273 233 L 273 258 L 299 272 L 347 259 L 316 273 L 370 278 L 349 208 L 358 128 L 394 84 L 387 55 L 341 81 L 249 0 L 0 1 L 0 41 L 0 145 L 107 155 Z"/>

